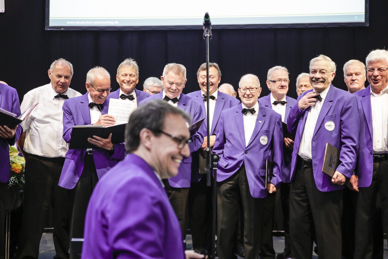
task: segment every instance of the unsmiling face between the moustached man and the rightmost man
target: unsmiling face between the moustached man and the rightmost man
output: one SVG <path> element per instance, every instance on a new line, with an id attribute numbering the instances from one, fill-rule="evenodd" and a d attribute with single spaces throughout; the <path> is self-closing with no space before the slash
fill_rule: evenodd
<path id="1" fill-rule="evenodd" d="M 360 63 L 350 64 L 345 68 L 344 81 L 352 94 L 365 87 L 366 74 Z"/>

